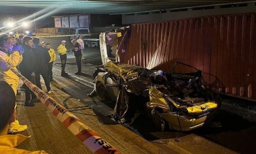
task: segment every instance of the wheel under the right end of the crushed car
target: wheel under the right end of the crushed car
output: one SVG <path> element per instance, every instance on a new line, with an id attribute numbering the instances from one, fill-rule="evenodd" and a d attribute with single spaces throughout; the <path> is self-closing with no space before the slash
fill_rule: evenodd
<path id="1" fill-rule="evenodd" d="M 158 129 L 158 131 L 166 130 L 168 127 L 168 123 L 162 118 L 159 110 L 157 108 L 154 108 L 151 111 L 151 114 L 152 114 L 152 121 L 156 129 Z"/>

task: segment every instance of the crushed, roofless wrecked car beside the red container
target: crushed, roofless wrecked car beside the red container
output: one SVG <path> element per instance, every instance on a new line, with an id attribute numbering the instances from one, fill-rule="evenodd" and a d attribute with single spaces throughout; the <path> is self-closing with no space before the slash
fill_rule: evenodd
<path id="1" fill-rule="evenodd" d="M 94 72 L 94 90 L 103 100 L 116 101 L 113 117 L 119 123 L 131 123 L 140 112 L 160 131 L 197 129 L 218 111 L 201 70 L 181 62 L 170 73 L 107 62 Z"/>

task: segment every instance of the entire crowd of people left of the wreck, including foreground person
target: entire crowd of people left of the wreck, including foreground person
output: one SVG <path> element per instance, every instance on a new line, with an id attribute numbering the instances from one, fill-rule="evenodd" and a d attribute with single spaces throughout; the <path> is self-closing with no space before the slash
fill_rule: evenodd
<path id="1" fill-rule="evenodd" d="M 75 74 L 82 74 L 82 50 L 84 49 L 84 42 L 79 40 L 72 40 L 75 60 L 77 63 L 77 72 Z M 80 44 L 79 44 L 79 43 Z M 61 76 L 67 76 L 65 72 L 65 64 L 67 61 L 67 49 L 65 48 L 65 40 L 57 48 L 61 58 Z M 12 68 L 20 70 L 21 74 L 36 84 L 38 88 L 42 89 L 40 84 L 40 76 L 44 79 L 47 93 L 51 93 L 50 82 L 53 80 L 53 62 L 56 60 L 56 54 L 50 44 L 40 42 L 38 38 L 24 37 L 16 41 L 13 37 L 7 35 L 0 35 L 0 60 L 5 61 Z M 0 61 L 0 152 L 13 151 L 13 153 L 26 152 L 22 149 L 15 149 L 11 147 L 1 146 L 5 142 L 21 143 L 27 137 L 23 135 L 7 135 L 7 132 L 18 133 L 26 130 L 26 125 L 20 125 L 16 119 L 17 104 L 15 103 L 15 96 L 18 92 L 20 79 L 18 76 L 9 70 L 5 62 Z M 18 69 L 17 69 L 17 68 Z M 25 88 L 25 103 L 24 106 L 34 106 L 34 102 L 38 102 L 36 95 L 24 84 Z M 34 151 L 35 153 L 45 153 L 44 151 Z"/>

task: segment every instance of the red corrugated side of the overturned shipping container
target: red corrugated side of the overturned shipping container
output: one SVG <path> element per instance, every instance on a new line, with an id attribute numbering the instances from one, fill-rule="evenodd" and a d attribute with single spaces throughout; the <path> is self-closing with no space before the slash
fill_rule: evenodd
<path id="1" fill-rule="evenodd" d="M 256 98 L 256 13 L 131 25 L 119 61 L 172 70 L 174 61 L 203 71 L 213 90 Z"/>

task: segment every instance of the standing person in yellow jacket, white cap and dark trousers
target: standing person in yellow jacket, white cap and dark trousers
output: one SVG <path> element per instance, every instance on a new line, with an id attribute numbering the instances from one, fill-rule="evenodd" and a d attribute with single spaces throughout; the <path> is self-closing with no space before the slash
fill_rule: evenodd
<path id="1" fill-rule="evenodd" d="M 62 40 L 61 44 L 57 48 L 59 57 L 61 58 L 61 76 L 67 76 L 67 73 L 65 72 L 65 66 L 67 62 L 67 48 L 65 47 L 65 44 L 66 41 Z"/>

